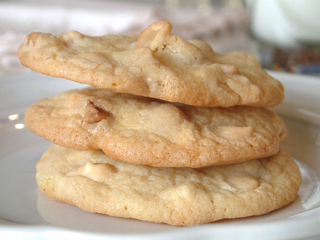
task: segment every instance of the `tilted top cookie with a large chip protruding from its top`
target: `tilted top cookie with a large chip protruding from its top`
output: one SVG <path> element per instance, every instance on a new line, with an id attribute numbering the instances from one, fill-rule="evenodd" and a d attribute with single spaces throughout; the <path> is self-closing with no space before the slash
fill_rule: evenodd
<path id="1" fill-rule="evenodd" d="M 149 25 L 138 37 L 31 32 L 18 56 L 44 74 L 190 105 L 273 106 L 283 99 L 282 84 L 251 54 L 219 54 L 203 41 L 172 35 L 166 21 Z"/>

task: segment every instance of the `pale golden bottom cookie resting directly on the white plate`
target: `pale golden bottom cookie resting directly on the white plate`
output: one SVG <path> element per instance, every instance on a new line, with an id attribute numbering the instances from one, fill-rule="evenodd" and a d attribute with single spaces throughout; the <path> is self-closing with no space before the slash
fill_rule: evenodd
<path id="1" fill-rule="evenodd" d="M 48 197 L 90 212 L 172 225 L 260 215 L 291 202 L 301 175 L 283 150 L 249 161 L 210 166 L 152 167 L 100 150 L 53 145 L 36 165 Z"/>

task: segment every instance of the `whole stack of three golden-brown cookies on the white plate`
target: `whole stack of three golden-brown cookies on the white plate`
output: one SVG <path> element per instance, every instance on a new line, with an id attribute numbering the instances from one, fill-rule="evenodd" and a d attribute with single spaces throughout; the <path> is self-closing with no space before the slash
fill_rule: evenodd
<path id="1" fill-rule="evenodd" d="M 155 22 L 136 35 L 32 32 L 21 62 L 93 86 L 39 100 L 26 126 L 57 144 L 37 163 L 52 199 L 112 216 L 193 225 L 291 202 L 301 176 L 264 108 L 281 83 L 249 53 L 214 52 Z"/>

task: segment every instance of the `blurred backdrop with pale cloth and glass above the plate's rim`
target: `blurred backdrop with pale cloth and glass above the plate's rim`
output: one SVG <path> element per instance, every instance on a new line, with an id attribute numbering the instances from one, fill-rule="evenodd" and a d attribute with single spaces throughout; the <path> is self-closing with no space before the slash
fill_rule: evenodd
<path id="1" fill-rule="evenodd" d="M 0 74 L 29 71 L 16 49 L 30 31 L 139 34 L 158 20 L 217 52 L 245 50 L 267 69 L 320 73 L 320 0 L 0 0 Z"/>

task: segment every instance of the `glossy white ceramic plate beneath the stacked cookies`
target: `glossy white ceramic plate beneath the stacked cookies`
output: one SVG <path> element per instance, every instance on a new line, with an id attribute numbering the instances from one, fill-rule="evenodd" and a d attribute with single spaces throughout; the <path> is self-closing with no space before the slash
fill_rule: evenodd
<path id="1" fill-rule="evenodd" d="M 89 213 L 45 197 L 35 164 L 51 145 L 23 125 L 36 100 L 83 86 L 39 73 L 0 77 L 0 238 L 57 239 L 317 239 L 320 236 L 320 79 L 270 72 L 285 86 L 274 110 L 290 130 L 282 144 L 298 162 L 302 185 L 286 207 L 266 215 L 190 227 Z"/>

